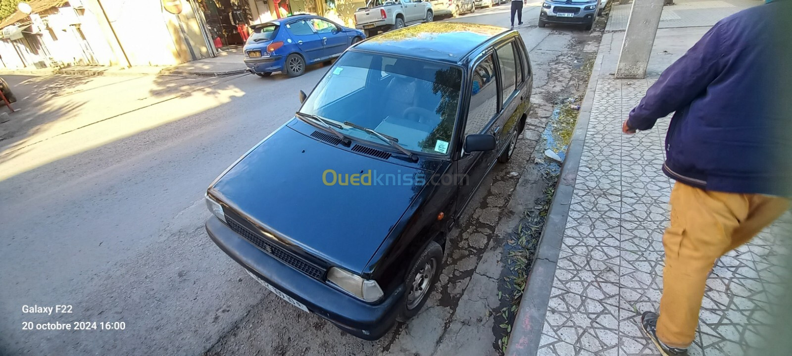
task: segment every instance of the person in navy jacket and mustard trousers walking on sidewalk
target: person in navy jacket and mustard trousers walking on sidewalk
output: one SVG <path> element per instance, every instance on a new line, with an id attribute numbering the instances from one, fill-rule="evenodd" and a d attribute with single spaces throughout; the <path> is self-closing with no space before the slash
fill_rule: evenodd
<path id="1" fill-rule="evenodd" d="M 664 355 L 687 354 L 717 259 L 789 208 L 788 163 L 775 155 L 789 155 L 788 118 L 773 109 L 778 67 L 767 62 L 777 59 L 768 34 L 779 3 L 719 21 L 663 72 L 622 127 L 648 130 L 676 112 L 663 165 L 676 180 L 663 235 L 663 295 L 659 315 L 644 312 L 641 321 Z"/>

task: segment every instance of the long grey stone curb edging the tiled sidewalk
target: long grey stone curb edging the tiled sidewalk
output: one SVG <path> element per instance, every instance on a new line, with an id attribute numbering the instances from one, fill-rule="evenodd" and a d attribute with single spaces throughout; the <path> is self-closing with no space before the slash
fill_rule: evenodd
<path id="1" fill-rule="evenodd" d="M 600 40 L 600 46 L 601 44 Z M 512 324 L 506 356 L 530 356 L 539 351 L 547 305 L 550 302 L 550 290 L 555 278 L 555 267 L 558 264 L 558 253 L 561 251 L 566 219 L 569 216 L 569 203 L 572 201 L 572 193 L 575 189 L 577 168 L 581 163 L 588 119 L 591 117 L 603 56 L 604 52 L 598 50 L 592 74 L 588 78 L 588 86 L 577 117 L 572 142 L 567 149 L 556 193 L 547 214 L 542 237 L 539 239 L 539 249 L 536 251 L 533 267 L 525 283 L 520 309 Z"/>

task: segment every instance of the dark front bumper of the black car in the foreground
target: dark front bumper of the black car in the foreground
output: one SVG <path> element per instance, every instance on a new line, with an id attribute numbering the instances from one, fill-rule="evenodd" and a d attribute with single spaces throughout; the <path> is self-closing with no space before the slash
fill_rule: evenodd
<path id="1" fill-rule="evenodd" d="M 311 312 L 360 339 L 376 340 L 385 335 L 396 322 L 398 306 L 405 303 L 403 286 L 386 295 L 379 304 L 350 297 L 267 255 L 214 216 L 206 222 L 206 232 L 234 261 L 304 304 Z"/>

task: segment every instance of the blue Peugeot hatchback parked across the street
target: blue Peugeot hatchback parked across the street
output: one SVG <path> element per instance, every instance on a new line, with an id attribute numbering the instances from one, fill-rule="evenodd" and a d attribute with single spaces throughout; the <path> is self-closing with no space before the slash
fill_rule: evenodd
<path id="1" fill-rule="evenodd" d="M 290 77 L 305 73 L 307 64 L 341 56 L 366 38 L 363 31 L 337 25 L 324 17 L 297 15 L 251 26 L 245 44 L 245 64 L 260 77 L 282 71 Z"/>

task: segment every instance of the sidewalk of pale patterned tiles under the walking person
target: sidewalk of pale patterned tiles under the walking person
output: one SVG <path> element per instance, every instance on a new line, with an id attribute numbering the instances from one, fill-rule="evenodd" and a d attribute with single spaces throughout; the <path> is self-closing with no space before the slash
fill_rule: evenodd
<path id="1" fill-rule="evenodd" d="M 641 312 L 656 310 L 663 285 L 661 238 L 673 184 L 661 172 L 668 118 L 633 136 L 623 135 L 621 124 L 661 71 L 705 32 L 659 30 L 648 78 L 639 80 L 610 75 L 623 33 L 605 34 L 537 354 L 657 354 L 637 322 Z M 779 264 L 792 250 L 790 228 L 787 212 L 752 243 L 718 261 L 691 355 L 737 356 L 761 346 L 772 315 L 768 301 L 780 294 L 775 283 L 788 279 Z"/>

